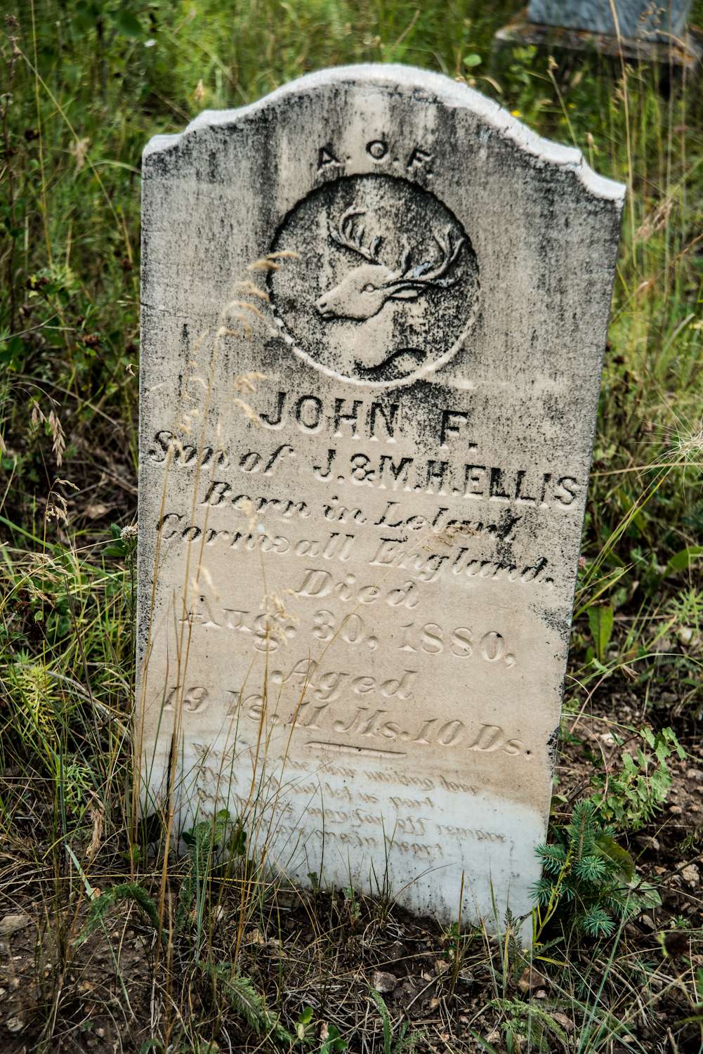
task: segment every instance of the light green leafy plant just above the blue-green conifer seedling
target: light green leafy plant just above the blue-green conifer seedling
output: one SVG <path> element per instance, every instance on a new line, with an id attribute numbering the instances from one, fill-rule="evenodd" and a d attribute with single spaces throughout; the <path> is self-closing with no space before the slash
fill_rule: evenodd
<path id="1" fill-rule="evenodd" d="M 624 753 L 620 772 L 591 777 L 600 793 L 592 798 L 599 816 L 621 831 L 639 831 L 662 807 L 671 786 L 667 761 L 673 754 L 686 757 L 671 728 L 656 735 L 643 728 L 640 737 L 644 748 L 634 757 Z"/>

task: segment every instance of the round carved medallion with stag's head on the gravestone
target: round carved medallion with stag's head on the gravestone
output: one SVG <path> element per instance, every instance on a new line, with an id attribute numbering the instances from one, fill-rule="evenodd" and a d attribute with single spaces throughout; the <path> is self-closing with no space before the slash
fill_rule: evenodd
<path id="1" fill-rule="evenodd" d="M 479 266 L 468 234 L 429 191 L 393 176 L 347 176 L 289 212 L 269 275 L 277 324 L 312 366 L 395 387 L 444 365 L 471 329 Z"/>

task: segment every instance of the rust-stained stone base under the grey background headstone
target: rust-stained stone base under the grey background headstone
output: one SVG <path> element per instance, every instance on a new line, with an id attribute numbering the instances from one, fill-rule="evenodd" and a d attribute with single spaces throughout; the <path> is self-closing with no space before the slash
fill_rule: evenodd
<path id="1" fill-rule="evenodd" d="M 496 47 L 515 45 L 522 47 L 525 44 L 533 44 L 538 47 L 548 45 L 570 52 L 598 52 L 600 55 L 612 58 L 620 58 L 622 55 L 628 61 L 676 66 L 695 73 L 700 72 L 703 59 L 703 39 L 690 28 L 682 46 L 681 43 L 630 40 L 605 33 L 589 33 L 586 30 L 539 25 L 529 21 L 526 9 L 499 30 L 493 41 Z"/>

